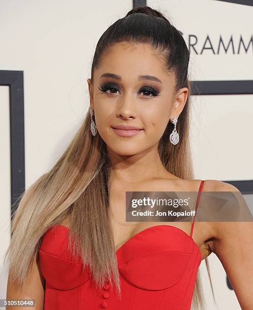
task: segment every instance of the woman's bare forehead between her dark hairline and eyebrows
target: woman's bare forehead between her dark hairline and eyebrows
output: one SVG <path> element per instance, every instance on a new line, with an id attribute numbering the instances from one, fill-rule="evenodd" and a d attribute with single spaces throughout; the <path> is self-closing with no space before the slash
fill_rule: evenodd
<path id="1" fill-rule="evenodd" d="M 94 79 L 99 79 L 105 72 L 118 74 L 122 82 L 137 82 L 138 75 L 153 75 L 163 85 L 174 85 L 174 74 L 165 70 L 164 60 L 150 44 L 115 44 L 102 55 L 99 68 L 94 70 Z"/>

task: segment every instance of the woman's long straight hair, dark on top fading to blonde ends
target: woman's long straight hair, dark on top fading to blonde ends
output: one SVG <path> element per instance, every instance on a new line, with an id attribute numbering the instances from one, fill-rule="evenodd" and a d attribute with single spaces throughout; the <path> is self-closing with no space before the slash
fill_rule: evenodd
<path id="1" fill-rule="evenodd" d="M 138 33 L 130 31 L 131 26 L 134 27 L 136 23 L 138 29 L 141 27 L 150 29 L 151 25 L 155 27 L 155 29 L 152 28 L 154 35 L 150 33 L 151 31 L 149 32 L 149 39 L 153 40 L 152 44 L 155 44 L 156 48 L 159 46 L 160 50 L 162 46 L 157 44 L 159 38 L 158 42 L 155 42 L 155 35 L 162 37 L 164 35 L 162 29 L 165 29 L 164 31 L 168 27 L 170 29 L 170 37 L 168 39 L 163 37 L 164 45 L 167 47 L 167 53 L 164 53 L 163 56 L 170 59 L 170 67 L 167 69 L 175 72 L 176 89 L 187 86 L 189 95 L 177 122 L 180 143 L 176 145 L 169 143 L 169 134 L 173 130 L 173 125 L 169 122 L 159 141 L 158 151 L 167 171 L 179 178 L 193 179 L 189 145 L 191 98 L 191 84 L 187 78 L 189 55 L 182 41 L 184 39 L 180 38 L 179 32 L 173 29 L 168 20 L 165 21 L 165 17 L 160 12 L 149 7 L 133 9 L 124 18 L 110 26 L 97 44 L 92 63 L 91 80 L 93 81 L 94 69 L 99 66 L 103 53 L 105 50 L 109 50 L 114 43 L 120 40 L 137 43 L 147 40 L 141 35 L 138 36 Z M 124 31 L 122 30 L 123 26 Z M 174 46 L 172 43 L 170 45 L 167 43 L 169 40 L 172 42 L 172 39 L 176 42 Z M 179 62 L 176 57 L 180 59 Z M 82 126 L 54 167 L 26 189 L 18 200 L 18 208 L 11 227 L 11 243 L 5 255 L 5 262 L 6 260 L 9 262 L 9 279 L 12 282 L 22 288 L 34 258 L 38 259 L 44 234 L 50 227 L 62 223 L 68 217 L 70 223 L 68 246 L 73 251 L 74 257 L 81 255 L 83 270 L 87 265 L 89 266 L 98 288 L 102 288 L 104 281 L 109 276 L 110 283 L 115 286 L 120 297 L 119 269 L 109 218 L 109 188 L 113 174 L 112 167 L 104 141 L 99 134 L 92 136 L 90 132 L 90 115 L 87 111 Z M 70 246 L 71 242 L 74 242 L 73 247 Z M 210 279 L 207 258 L 205 262 Z M 203 302 L 198 270 L 193 304 L 196 308 L 199 306 L 203 308 Z"/>

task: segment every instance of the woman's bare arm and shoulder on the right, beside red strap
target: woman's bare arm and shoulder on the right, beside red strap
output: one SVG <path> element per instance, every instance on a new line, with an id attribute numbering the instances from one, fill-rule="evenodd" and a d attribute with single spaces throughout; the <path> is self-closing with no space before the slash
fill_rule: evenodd
<path id="1" fill-rule="evenodd" d="M 238 191 L 216 181 L 216 191 Z M 243 197 L 242 197 L 243 198 Z M 243 310 L 253 309 L 253 222 L 215 222 L 213 252 L 220 259 Z"/>

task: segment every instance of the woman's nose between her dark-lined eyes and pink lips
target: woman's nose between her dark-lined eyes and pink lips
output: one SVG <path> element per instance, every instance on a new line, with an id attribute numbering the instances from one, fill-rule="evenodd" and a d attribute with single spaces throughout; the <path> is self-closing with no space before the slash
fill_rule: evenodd
<path id="1" fill-rule="evenodd" d="M 123 95 L 117 102 L 117 118 L 122 120 L 135 119 L 137 115 L 137 106 L 133 97 Z"/>

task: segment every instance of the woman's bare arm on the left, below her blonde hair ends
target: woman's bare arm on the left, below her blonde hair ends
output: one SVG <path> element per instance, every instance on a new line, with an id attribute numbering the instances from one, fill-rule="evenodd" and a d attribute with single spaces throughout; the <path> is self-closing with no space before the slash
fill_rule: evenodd
<path id="1" fill-rule="evenodd" d="M 44 308 L 44 289 L 45 279 L 40 270 L 39 260 L 34 259 L 32 268 L 30 269 L 27 279 L 25 280 L 24 288 L 19 292 L 15 284 L 8 279 L 6 299 L 34 299 L 35 307 L 13 307 L 7 306 L 7 310 L 43 310 Z"/>

